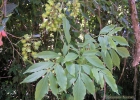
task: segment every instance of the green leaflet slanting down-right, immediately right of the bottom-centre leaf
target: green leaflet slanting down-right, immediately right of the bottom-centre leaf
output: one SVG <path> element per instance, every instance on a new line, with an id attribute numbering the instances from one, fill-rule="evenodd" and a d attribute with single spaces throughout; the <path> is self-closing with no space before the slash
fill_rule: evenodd
<path id="1" fill-rule="evenodd" d="M 95 93 L 95 86 L 93 81 L 89 78 L 89 76 L 87 76 L 84 73 L 81 73 L 81 78 L 83 80 L 83 82 L 85 83 L 85 87 L 86 89 L 92 94 L 94 95 Z"/>

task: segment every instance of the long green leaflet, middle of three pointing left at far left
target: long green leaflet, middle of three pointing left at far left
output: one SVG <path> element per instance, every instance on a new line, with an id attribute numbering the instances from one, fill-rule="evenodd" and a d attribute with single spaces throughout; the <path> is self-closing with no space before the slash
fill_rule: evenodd
<path id="1" fill-rule="evenodd" d="M 53 62 L 39 62 L 39 63 L 35 63 L 33 64 L 31 67 L 29 67 L 25 72 L 25 73 L 31 73 L 31 72 L 37 72 L 40 71 L 42 69 L 48 69 L 50 67 L 52 67 L 54 65 Z"/>

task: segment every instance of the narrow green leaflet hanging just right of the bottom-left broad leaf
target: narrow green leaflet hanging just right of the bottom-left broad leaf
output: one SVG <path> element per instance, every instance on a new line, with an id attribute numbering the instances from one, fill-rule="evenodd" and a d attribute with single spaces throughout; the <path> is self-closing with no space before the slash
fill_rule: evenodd
<path id="1" fill-rule="evenodd" d="M 55 96 L 57 96 L 57 94 L 58 94 L 58 85 L 57 85 L 57 81 L 56 81 L 56 78 L 55 78 L 53 73 L 50 73 L 50 75 L 49 75 L 49 82 L 50 82 L 50 89 L 51 89 L 52 93 Z"/>

